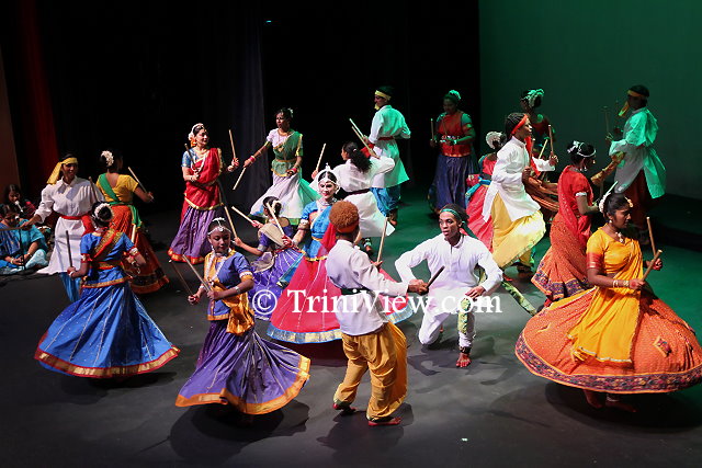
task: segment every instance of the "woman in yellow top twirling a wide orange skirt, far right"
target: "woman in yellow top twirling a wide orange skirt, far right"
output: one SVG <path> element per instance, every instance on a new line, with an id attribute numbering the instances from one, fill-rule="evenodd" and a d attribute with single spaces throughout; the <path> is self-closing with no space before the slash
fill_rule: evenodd
<path id="1" fill-rule="evenodd" d="M 588 240 L 592 288 L 553 303 L 532 318 L 517 341 L 517 356 L 535 375 L 581 388 L 588 403 L 635 411 L 622 393 L 680 390 L 702 379 L 702 349 L 694 331 L 643 279 L 632 202 L 610 194 L 608 219 Z M 604 402 L 601 392 L 607 392 Z"/>

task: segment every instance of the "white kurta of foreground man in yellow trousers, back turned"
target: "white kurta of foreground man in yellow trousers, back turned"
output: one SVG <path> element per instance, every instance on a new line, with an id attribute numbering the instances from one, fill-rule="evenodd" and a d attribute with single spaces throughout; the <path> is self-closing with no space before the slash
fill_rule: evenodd
<path id="1" fill-rule="evenodd" d="M 405 296 L 408 283 L 395 283 L 383 276 L 371 263 L 369 255 L 354 248 L 348 240 L 338 240 L 327 255 L 327 275 L 339 288 L 367 289 L 358 294 L 341 295 L 335 301 L 333 311 L 341 331 L 361 335 L 380 329 L 388 321 L 378 293 L 386 296 Z"/>

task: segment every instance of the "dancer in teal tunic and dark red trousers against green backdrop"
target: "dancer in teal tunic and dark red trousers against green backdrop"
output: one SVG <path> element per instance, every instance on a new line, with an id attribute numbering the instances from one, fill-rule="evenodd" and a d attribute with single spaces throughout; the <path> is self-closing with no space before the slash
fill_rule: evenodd
<path id="1" fill-rule="evenodd" d="M 632 221 L 641 230 L 646 230 L 646 213 L 656 198 L 666 193 L 666 168 L 654 149 L 658 135 L 658 121 L 648 110 L 648 89 L 642 84 L 631 87 L 626 93 L 626 104 L 620 117 L 632 110 L 624 124 L 624 132 L 615 128 L 608 135 L 610 156 L 624 153 L 624 161 L 616 168 L 614 191 L 624 193 L 634 203 Z M 645 239 L 645 238 L 644 238 Z"/>

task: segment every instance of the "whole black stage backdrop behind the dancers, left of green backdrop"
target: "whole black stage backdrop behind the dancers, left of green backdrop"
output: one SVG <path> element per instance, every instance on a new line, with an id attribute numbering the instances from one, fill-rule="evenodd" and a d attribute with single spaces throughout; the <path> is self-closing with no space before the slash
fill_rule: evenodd
<path id="1" fill-rule="evenodd" d="M 308 179 L 322 144 L 325 161 L 341 162 L 341 145 L 354 138 L 349 117 L 370 130 L 373 91 L 392 84 L 393 104 L 412 130 L 411 141 L 400 142 L 409 185 L 424 190 L 435 161 L 428 146 L 430 118 L 441 112 L 443 94 L 458 90 L 462 109 L 474 119 L 479 115 L 475 2 L 448 13 L 392 2 L 320 10 L 281 2 L 36 1 L 36 24 L 57 152 L 76 151 L 81 174 L 94 178 L 102 171 L 101 150 L 121 150 L 125 165 L 157 196 L 144 207 L 147 213 L 182 203 L 180 158 L 197 122 L 208 126 L 212 144 L 227 160 L 231 128 L 244 159 L 274 127 L 275 111 L 293 107 Z M 16 73 L 10 92 L 29 85 Z M 18 123 L 15 135 L 26 135 L 31 124 Z M 484 147 L 480 136 L 478 146 Z M 18 144 L 19 158 L 27 162 L 21 165 L 23 180 L 30 180 L 26 171 L 37 158 L 29 147 Z M 227 175 L 225 185 L 237 175 Z M 269 164 L 259 161 L 236 196 L 228 190 L 227 196 L 248 206 L 270 183 Z M 41 189 L 31 187 L 35 196 Z"/>

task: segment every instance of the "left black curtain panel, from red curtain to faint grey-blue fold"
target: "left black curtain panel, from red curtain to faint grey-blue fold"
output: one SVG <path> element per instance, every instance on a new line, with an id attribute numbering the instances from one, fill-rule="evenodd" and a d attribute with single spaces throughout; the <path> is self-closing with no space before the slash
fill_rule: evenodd
<path id="1" fill-rule="evenodd" d="M 42 2 L 39 15 L 58 146 L 75 151 L 81 175 L 103 172 L 100 152 L 117 149 L 152 191 L 151 209 L 178 208 L 180 162 L 199 122 L 231 160 L 264 139 L 261 12 L 234 2 Z M 264 190 L 263 164 L 223 179 L 228 202 L 248 205 Z"/>

